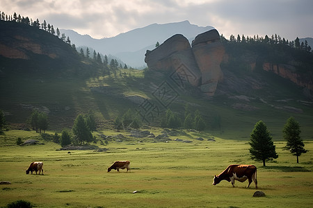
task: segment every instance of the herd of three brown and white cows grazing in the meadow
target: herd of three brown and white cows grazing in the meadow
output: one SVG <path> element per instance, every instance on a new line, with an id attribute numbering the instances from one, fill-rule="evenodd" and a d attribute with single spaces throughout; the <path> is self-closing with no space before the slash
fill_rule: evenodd
<path id="1" fill-rule="evenodd" d="M 32 162 L 29 165 L 29 168 L 26 170 L 26 174 L 31 174 L 33 172 L 36 173 L 39 171 L 43 175 L 42 169 L 43 163 L 42 162 Z M 120 169 L 127 168 L 126 172 L 130 172 L 130 162 L 127 161 L 115 161 L 109 168 L 108 172 L 112 169 L 120 172 Z M 257 189 L 257 167 L 253 165 L 230 165 L 228 166 L 225 171 L 220 173 L 220 175 L 214 175 L 213 184 L 216 185 L 220 183 L 221 180 L 227 180 L 227 182 L 232 182 L 232 187 L 234 187 L 234 180 L 238 180 L 239 182 L 245 182 L 248 179 L 248 187 L 250 186 L 251 182 L 255 182 L 255 189 Z M 247 188 L 248 188 L 247 187 Z"/>

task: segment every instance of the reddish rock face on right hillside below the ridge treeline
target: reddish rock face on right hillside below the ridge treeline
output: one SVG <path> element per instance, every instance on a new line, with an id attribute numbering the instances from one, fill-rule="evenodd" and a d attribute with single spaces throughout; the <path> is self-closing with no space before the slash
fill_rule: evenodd
<path id="1" fill-rule="evenodd" d="M 310 89 L 310 92 L 313 92 L 312 73 L 300 74 L 296 72 L 296 67 L 290 64 L 271 64 L 269 62 L 264 62 L 263 69 L 276 73 L 278 76 L 291 80 L 296 85 Z"/>

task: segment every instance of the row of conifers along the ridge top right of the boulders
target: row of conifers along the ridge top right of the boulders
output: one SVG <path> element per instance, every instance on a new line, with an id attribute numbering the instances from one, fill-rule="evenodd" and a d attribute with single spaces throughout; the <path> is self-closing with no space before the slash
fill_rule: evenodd
<path id="1" fill-rule="evenodd" d="M 235 37 L 234 35 L 230 35 L 230 40 L 227 40 L 223 34 L 220 35 L 220 40 L 222 42 L 230 42 L 230 43 L 248 43 L 248 44 L 271 44 L 271 45 L 284 45 L 289 46 L 292 49 L 300 49 L 302 51 L 311 52 L 312 48 L 307 43 L 307 40 L 305 42 L 301 42 L 299 38 L 297 37 L 296 40 L 290 41 L 286 40 L 284 37 L 280 37 L 280 35 L 271 35 L 271 37 L 268 37 L 268 35 L 265 35 L 265 37 L 259 37 L 259 35 L 254 35 L 253 37 L 249 37 L 245 35 L 237 35 Z"/>

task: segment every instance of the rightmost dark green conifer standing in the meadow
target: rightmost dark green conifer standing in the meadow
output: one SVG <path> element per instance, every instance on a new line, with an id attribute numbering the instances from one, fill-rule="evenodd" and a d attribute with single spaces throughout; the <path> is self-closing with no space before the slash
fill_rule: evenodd
<path id="1" fill-rule="evenodd" d="M 297 163 L 299 163 L 298 157 L 302 153 L 307 153 L 307 150 L 304 148 L 305 145 L 300 138 L 300 132 L 299 123 L 291 116 L 284 125 L 282 137 L 287 140 L 287 145 L 284 147 L 284 150 L 289 150 L 292 155 L 296 155 Z"/>

